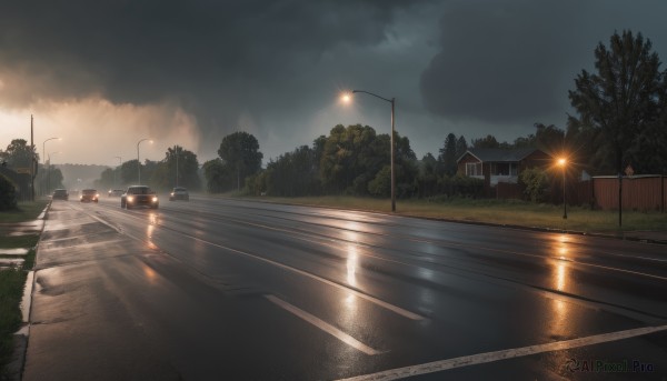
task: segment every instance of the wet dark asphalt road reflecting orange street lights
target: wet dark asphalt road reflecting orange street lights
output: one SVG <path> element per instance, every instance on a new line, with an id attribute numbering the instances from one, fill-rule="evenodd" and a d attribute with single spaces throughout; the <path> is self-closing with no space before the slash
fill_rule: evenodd
<path id="1" fill-rule="evenodd" d="M 665 245 L 119 204 L 52 203 L 23 380 L 667 380 Z"/>

